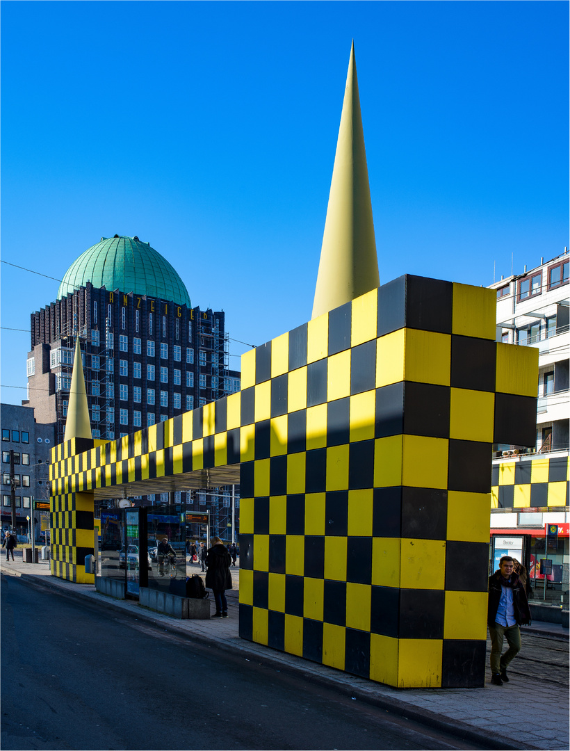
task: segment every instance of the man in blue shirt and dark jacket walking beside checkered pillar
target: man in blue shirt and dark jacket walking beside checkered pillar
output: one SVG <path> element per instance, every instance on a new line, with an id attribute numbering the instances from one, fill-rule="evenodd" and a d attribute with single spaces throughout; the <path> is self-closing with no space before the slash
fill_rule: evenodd
<path id="1" fill-rule="evenodd" d="M 499 569 L 489 577 L 487 625 L 491 637 L 491 683 L 508 683 L 507 667 L 520 652 L 520 629 L 530 623 L 529 602 L 511 556 L 502 556 Z M 508 650 L 502 654 L 503 639 Z"/>

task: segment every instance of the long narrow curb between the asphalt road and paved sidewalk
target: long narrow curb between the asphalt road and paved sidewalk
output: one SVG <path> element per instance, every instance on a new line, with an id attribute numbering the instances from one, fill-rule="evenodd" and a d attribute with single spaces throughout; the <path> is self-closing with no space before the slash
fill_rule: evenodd
<path id="1" fill-rule="evenodd" d="M 136 616 L 137 620 L 143 621 L 144 623 L 149 623 L 156 628 L 176 634 L 177 636 L 183 636 L 184 638 L 188 639 L 188 641 L 196 641 L 199 644 L 204 644 L 209 647 L 217 647 L 219 650 L 233 653 L 234 655 L 236 653 L 236 650 L 239 650 L 244 655 L 247 654 L 251 658 L 255 658 L 261 663 L 271 665 L 273 668 L 278 668 L 279 671 L 294 674 L 297 676 L 301 675 L 307 680 L 311 680 L 312 683 L 317 683 L 319 686 L 323 686 L 327 689 L 334 689 L 344 696 L 349 696 L 350 698 L 353 698 L 357 701 L 363 701 L 366 704 L 370 704 L 374 707 L 378 707 L 378 709 L 383 709 L 387 712 L 393 713 L 394 715 L 402 717 L 403 719 L 412 719 L 414 722 L 427 725 L 428 727 L 434 728 L 439 731 L 444 731 L 448 734 L 453 735 L 454 737 L 457 737 L 460 740 L 467 740 L 472 743 L 484 744 L 487 745 L 489 749 L 497 749 L 497 751 L 503 751 L 503 749 L 505 749 L 505 751 L 519 751 L 519 749 L 539 751 L 538 746 L 531 746 L 529 744 L 521 746 L 520 743 L 517 745 L 514 745 L 514 743 L 506 743 L 505 741 L 499 740 L 496 737 L 496 733 L 482 729 L 477 730 L 471 725 L 467 725 L 465 722 L 460 722 L 460 720 L 454 720 L 451 718 L 444 719 L 442 715 L 436 714 L 430 710 L 420 710 L 417 707 L 414 707 L 412 704 L 407 704 L 405 701 L 400 701 L 397 698 L 372 695 L 372 692 L 367 690 L 366 688 L 363 688 L 362 686 L 355 686 L 354 684 L 350 683 L 353 677 L 349 674 L 342 673 L 342 671 L 339 671 L 339 677 L 320 675 L 307 669 L 304 665 L 294 665 L 290 662 L 284 662 L 276 655 L 267 654 L 265 652 L 258 651 L 255 648 L 259 646 L 261 647 L 261 650 L 264 650 L 265 647 L 263 647 L 263 645 L 255 645 L 255 647 L 252 647 L 253 643 L 250 643 L 249 641 L 230 642 L 225 638 L 213 638 L 205 637 L 201 634 L 190 634 L 187 630 L 179 628 L 176 622 L 171 622 L 171 619 L 164 623 L 158 622 L 154 612 L 146 611 L 146 608 L 143 608 L 142 606 L 136 605 L 137 608 L 140 608 L 140 611 L 131 611 L 127 608 L 123 608 L 121 605 L 116 604 L 116 602 L 114 602 L 112 598 L 108 598 L 107 596 L 100 593 L 96 594 L 99 594 L 101 596 L 101 599 L 94 598 L 87 593 L 67 590 L 65 587 L 60 587 L 58 584 L 54 584 L 47 578 L 46 581 L 43 581 L 44 578 L 42 578 L 42 581 L 38 581 L 37 575 L 23 575 L 22 572 L 17 571 L 2 571 L 2 575 L 15 576 L 17 578 L 20 578 L 22 579 L 23 584 L 26 584 L 30 587 L 35 587 L 38 589 L 49 587 L 50 591 L 58 594 L 59 596 L 67 597 L 68 599 L 79 598 L 85 602 L 92 602 L 93 604 L 99 606 L 102 605 L 104 608 L 125 615 L 126 617 Z M 166 618 L 167 616 L 164 617 Z M 315 663 L 315 665 L 318 665 L 318 663 Z M 333 668 L 330 668 L 330 670 L 333 670 Z"/>

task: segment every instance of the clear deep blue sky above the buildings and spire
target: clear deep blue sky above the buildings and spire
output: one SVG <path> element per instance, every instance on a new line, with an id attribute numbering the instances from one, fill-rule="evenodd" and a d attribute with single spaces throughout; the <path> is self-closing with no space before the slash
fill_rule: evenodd
<path id="1" fill-rule="evenodd" d="M 2 2 L 2 259 L 61 279 L 136 234 L 233 339 L 309 320 L 352 38 L 381 282 L 563 252 L 566 2 L 133 0 Z M 7 329 L 59 284 L 0 272 L 2 385 L 24 387 Z"/>

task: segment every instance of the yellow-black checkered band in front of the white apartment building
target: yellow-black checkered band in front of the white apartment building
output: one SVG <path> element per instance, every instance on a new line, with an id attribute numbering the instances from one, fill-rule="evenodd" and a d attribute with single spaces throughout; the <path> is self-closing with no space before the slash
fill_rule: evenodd
<path id="1" fill-rule="evenodd" d="M 493 466 L 491 508 L 556 508 L 568 506 L 568 457 L 525 457 Z"/>

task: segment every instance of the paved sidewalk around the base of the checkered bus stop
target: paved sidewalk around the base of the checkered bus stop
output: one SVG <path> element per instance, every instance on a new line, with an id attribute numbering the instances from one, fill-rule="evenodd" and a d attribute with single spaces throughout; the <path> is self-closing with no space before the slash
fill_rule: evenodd
<path id="1" fill-rule="evenodd" d="M 189 639 L 216 644 L 219 648 L 234 653 L 243 653 L 244 656 L 247 655 L 246 659 L 270 663 L 278 671 L 302 673 L 309 680 L 327 688 L 336 688 L 356 701 L 374 704 L 407 719 L 451 732 L 468 742 L 487 745 L 490 749 L 568 749 L 567 682 L 562 685 L 547 678 L 514 674 L 510 683 L 492 686 L 488 682 L 490 675 L 487 670 L 487 683 L 481 689 L 394 689 L 240 639 L 239 569 L 231 569 L 234 590 L 227 593 L 229 618 L 178 620 L 143 608 L 134 600 L 116 600 L 104 596 L 92 584 L 74 584 L 53 577 L 47 561 L 24 563 L 21 556 L 21 550 L 17 550 L 16 561 L 8 563 L 2 557 L 0 572 L 21 577 L 36 586 L 50 587 L 65 596 L 88 599 L 101 607 L 136 617 Z M 200 572 L 200 567 L 196 565 L 188 566 L 188 569 L 196 569 L 192 573 Z M 562 648 L 557 651 L 567 665 L 568 629 L 562 629 L 562 626 L 556 624 L 535 622 L 524 629 L 523 650 L 525 637 L 532 634 L 535 638 L 543 637 L 541 641 L 545 641 L 545 636 L 550 636 L 547 640 L 549 643 L 556 643 L 558 639 L 557 646 Z M 532 662 L 532 655 L 528 654 L 527 659 Z M 549 664 L 544 663 L 546 675 Z"/>

